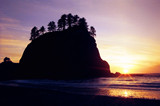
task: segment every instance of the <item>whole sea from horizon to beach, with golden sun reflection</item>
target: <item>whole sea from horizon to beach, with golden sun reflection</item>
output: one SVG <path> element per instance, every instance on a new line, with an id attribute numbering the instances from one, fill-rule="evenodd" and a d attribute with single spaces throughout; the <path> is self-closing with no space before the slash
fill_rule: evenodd
<path id="1" fill-rule="evenodd" d="M 37 88 L 82 95 L 160 100 L 160 74 L 121 75 L 83 80 L 9 80 L 0 85 Z"/>

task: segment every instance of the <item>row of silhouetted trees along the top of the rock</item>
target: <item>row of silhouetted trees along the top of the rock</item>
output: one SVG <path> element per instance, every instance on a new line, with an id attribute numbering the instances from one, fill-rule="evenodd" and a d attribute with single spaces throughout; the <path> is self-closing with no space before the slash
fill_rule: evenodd
<path id="1" fill-rule="evenodd" d="M 80 27 L 81 29 L 85 29 L 88 30 L 88 32 L 90 33 L 90 36 L 95 37 L 96 36 L 96 30 L 93 26 L 90 27 L 90 29 L 88 28 L 88 24 L 86 19 L 80 18 L 78 15 L 72 15 L 71 13 L 69 14 L 63 14 L 61 16 L 61 18 L 58 20 L 57 22 L 57 26 L 55 24 L 54 21 L 50 21 L 48 23 L 48 32 L 55 32 L 55 31 L 64 31 L 67 29 L 71 29 L 74 27 Z M 31 29 L 31 37 L 30 40 L 35 40 L 36 38 L 38 38 L 40 35 L 44 35 L 45 34 L 45 27 L 42 26 L 39 30 L 36 26 L 34 26 Z"/>

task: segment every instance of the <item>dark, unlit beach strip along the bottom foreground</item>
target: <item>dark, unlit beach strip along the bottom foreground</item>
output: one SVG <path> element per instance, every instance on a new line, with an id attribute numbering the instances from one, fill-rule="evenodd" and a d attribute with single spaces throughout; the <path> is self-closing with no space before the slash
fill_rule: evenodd
<path id="1" fill-rule="evenodd" d="M 81 95 L 63 93 L 60 91 L 0 86 L 0 105 L 5 106 L 88 106 L 88 105 L 154 105 L 158 106 L 160 100 L 136 99 L 123 97 L 110 97 L 99 95 Z"/>

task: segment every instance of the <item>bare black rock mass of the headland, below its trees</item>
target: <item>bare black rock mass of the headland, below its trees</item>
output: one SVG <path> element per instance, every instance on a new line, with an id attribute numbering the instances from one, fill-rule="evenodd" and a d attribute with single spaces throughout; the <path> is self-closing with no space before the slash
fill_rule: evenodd
<path id="1" fill-rule="evenodd" d="M 23 74 L 49 78 L 109 76 L 109 64 L 100 57 L 95 39 L 80 28 L 46 33 L 25 49 Z"/>

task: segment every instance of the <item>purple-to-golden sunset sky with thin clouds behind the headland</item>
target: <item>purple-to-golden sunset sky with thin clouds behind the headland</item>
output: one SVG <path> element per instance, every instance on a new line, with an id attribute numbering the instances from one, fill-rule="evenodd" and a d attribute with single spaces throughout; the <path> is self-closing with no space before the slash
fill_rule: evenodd
<path id="1" fill-rule="evenodd" d="M 160 0 L 1 0 L 0 62 L 19 62 L 33 26 L 85 17 L 111 72 L 160 73 Z"/>

